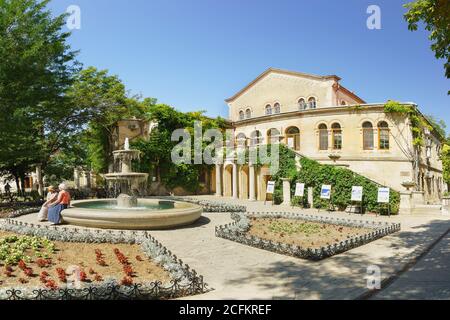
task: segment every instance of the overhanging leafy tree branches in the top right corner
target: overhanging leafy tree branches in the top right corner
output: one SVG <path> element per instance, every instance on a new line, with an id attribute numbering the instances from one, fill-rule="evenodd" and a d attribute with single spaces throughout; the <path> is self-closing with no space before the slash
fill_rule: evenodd
<path id="1" fill-rule="evenodd" d="M 405 20 L 409 30 L 415 31 L 419 22 L 424 23 L 430 32 L 431 49 L 437 59 L 445 60 L 445 75 L 450 78 L 450 1 L 416 0 L 404 6 L 408 9 Z"/>

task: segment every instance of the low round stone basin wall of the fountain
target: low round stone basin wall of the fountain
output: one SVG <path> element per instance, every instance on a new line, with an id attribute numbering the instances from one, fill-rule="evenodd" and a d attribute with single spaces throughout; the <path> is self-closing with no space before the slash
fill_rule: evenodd
<path id="1" fill-rule="evenodd" d="M 161 199 L 138 199 L 139 205 L 167 205 L 170 209 L 135 210 L 135 209 L 96 209 L 82 208 L 98 202 L 114 202 L 111 199 L 73 201 L 72 206 L 62 212 L 65 223 L 102 229 L 155 230 L 182 227 L 197 221 L 203 212 L 201 206 Z"/>

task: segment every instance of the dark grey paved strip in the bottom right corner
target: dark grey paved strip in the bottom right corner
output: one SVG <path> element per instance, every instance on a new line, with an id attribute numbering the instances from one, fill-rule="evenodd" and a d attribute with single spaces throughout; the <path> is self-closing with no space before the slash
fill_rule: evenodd
<path id="1" fill-rule="evenodd" d="M 372 299 L 450 300 L 450 233 Z"/>

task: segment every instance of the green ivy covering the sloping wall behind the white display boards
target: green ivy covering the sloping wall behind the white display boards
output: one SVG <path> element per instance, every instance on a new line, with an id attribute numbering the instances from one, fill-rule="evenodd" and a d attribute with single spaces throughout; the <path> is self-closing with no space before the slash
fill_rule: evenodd
<path id="1" fill-rule="evenodd" d="M 270 149 L 270 148 L 269 148 Z M 301 170 L 297 171 L 295 164 L 295 153 L 284 145 L 280 145 L 280 171 L 272 177 L 275 183 L 274 199 L 276 203 L 282 202 L 282 181 L 281 178 L 288 178 L 291 181 L 291 193 L 295 192 L 295 183 L 305 183 L 305 187 L 314 188 L 314 206 L 316 208 L 326 208 L 328 201 L 320 199 L 322 185 L 332 185 L 332 203 L 340 210 L 344 210 L 351 204 L 352 186 L 362 186 L 364 188 L 364 208 L 369 212 L 382 212 L 383 206 L 377 203 L 378 188 L 381 187 L 374 181 L 359 175 L 349 169 L 323 165 L 317 161 L 301 158 Z M 390 199 L 391 211 L 398 213 L 400 204 L 400 194 L 391 190 Z M 304 197 L 303 203 L 300 199 L 295 199 L 293 205 L 306 206 L 307 199 Z"/>

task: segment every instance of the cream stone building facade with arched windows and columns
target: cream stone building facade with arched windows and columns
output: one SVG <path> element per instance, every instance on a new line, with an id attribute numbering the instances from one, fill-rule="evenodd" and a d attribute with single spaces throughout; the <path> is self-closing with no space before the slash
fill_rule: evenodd
<path id="1" fill-rule="evenodd" d="M 386 114 L 384 103 L 368 104 L 340 78 L 268 69 L 226 100 L 237 147 L 284 143 L 299 156 L 347 167 L 399 192 L 416 183 L 416 203 L 440 202 L 445 188 L 442 137 L 426 132 L 418 153 L 405 115 Z M 413 103 L 405 103 L 414 105 Z M 216 165 L 216 195 L 264 200 L 268 168 Z"/>

